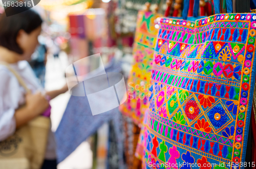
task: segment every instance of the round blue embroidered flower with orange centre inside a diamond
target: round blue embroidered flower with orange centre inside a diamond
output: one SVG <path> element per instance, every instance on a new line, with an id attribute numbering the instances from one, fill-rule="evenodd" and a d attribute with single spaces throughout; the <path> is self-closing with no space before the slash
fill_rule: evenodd
<path id="1" fill-rule="evenodd" d="M 219 116 L 218 116 L 219 114 Z M 217 115 L 217 116 L 216 116 Z M 228 121 L 228 116 L 221 106 L 215 106 L 208 112 L 208 118 L 215 127 L 221 127 Z"/>

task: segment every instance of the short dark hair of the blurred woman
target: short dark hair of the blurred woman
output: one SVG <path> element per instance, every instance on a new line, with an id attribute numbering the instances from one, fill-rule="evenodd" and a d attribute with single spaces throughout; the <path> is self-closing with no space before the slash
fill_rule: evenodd
<path id="1" fill-rule="evenodd" d="M 18 13 L 19 11 L 21 13 Z M 6 13 L 18 14 L 6 16 L 4 13 L 0 16 L 0 46 L 23 54 L 23 50 L 16 42 L 18 32 L 24 30 L 30 34 L 41 25 L 42 19 L 35 11 L 27 7 L 8 7 Z"/>

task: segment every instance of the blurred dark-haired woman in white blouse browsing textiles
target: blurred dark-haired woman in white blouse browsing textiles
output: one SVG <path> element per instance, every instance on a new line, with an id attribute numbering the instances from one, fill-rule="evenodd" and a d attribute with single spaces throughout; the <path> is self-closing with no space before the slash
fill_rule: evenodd
<path id="1" fill-rule="evenodd" d="M 42 20 L 33 10 L 26 7 L 9 7 L 11 12 L 25 11 L 6 17 L 0 17 L 0 61 L 12 67 L 32 94 L 25 92 L 16 76 L 0 64 L 0 141 L 7 139 L 15 130 L 49 108 L 49 101 L 65 93 L 67 85 L 60 90 L 45 92 L 36 79 L 28 60 L 38 44 Z M 49 132 L 48 146 L 42 168 L 56 168 L 55 140 Z"/>

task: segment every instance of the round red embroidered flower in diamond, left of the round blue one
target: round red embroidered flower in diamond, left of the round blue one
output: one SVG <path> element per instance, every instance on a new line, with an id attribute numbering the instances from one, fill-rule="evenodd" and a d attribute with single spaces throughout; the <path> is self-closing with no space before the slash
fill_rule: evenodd
<path id="1" fill-rule="evenodd" d="M 188 119 L 194 120 L 199 115 L 199 107 L 195 100 L 189 100 L 185 105 L 185 114 Z"/>

